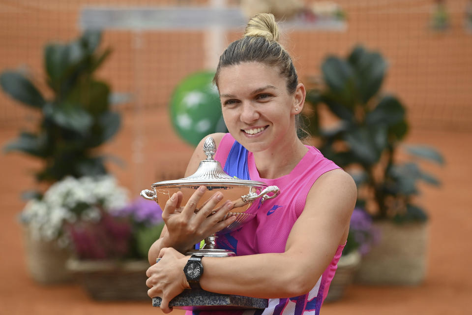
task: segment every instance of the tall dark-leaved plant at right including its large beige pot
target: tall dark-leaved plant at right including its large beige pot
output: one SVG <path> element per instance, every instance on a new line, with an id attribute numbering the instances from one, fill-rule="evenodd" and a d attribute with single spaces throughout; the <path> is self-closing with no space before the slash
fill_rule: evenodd
<path id="1" fill-rule="evenodd" d="M 442 164 L 443 159 L 433 148 L 402 145 L 409 128 L 406 109 L 399 98 L 381 91 L 386 68 L 381 54 L 362 46 L 345 59 L 326 58 L 324 84 L 308 92 L 312 111 L 303 118 L 324 156 L 352 174 L 357 206 L 382 230 L 379 245 L 363 257 L 361 281 L 417 284 L 425 274 L 427 238 L 427 215 L 415 198 L 417 182 L 440 184 L 417 162 Z M 412 158 L 400 160 L 400 148 Z"/>

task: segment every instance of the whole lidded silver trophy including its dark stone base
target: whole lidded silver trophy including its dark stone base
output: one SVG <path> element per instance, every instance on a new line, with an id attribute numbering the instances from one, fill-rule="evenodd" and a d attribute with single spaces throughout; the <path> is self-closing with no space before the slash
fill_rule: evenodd
<path id="1" fill-rule="evenodd" d="M 194 191 L 204 185 L 207 187 L 207 190 L 196 206 L 195 211 L 198 212 L 198 209 L 200 209 L 214 193 L 221 191 L 224 197 L 215 206 L 215 209 L 222 206 L 230 199 L 234 208 L 231 212 L 226 214 L 223 220 L 227 219 L 229 216 L 236 216 L 235 222 L 218 232 L 219 234 L 224 234 L 238 229 L 241 225 L 256 217 L 257 207 L 250 207 L 254 201 L 258 200 L 262 204 L 265 200 L 275 198 L 280 193 L 277 186 L 268 186 L 258 181 L 240 180 L 226 174 L 220 162 L 213 159 L 213 155 L 216 152 L 216 144 L 212 137 L 207 137 L 203 150 L 207 158 L 200 162 L 194 174 L 177 180 L 154 183 L 151 185 L 151 189 L 142 190 L 141 196 L 148 200 L 154 200 L 164 209 L 167 200 L 177 191 L 182 191 L 183 200 L 181 204 L 185 205 Z M 232 251 L 217 249 L 216 236 L 214 234 L 205 239 L 205 246 L 203 248 L 192 250 L 185 254 L 198 254 L 210 257 L 235 255 Z M 206 302 L 202 304 L 202 300 Z M 160 298 L 153 298 L 153 306 L 160 306 Z M 267 306 L 267 300 L 191 289 L 185 290 L 174 298 L 170 306 L 187 310 L 226 308 L 263 309 Z"/>

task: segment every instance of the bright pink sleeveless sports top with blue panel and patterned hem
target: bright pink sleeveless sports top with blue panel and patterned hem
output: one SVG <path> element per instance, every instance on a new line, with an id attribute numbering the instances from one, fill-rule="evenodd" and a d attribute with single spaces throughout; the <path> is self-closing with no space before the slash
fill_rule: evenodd
<path id="1" fill-rule="evenodd" d="M 281 193 L 274 199 L 266 200 L 262 205 L 254 202 L 251 208 L 257 207 L 257 209 L 251 209 L 251 212 L 256 214 L 256 218 L 236 231 L 218 235 L 216 239 L 218 248 L 232 250 L 238 256 L 285 251 L 289 233 L 305 207 L 306 196 L 313 183 L 325 172 L 339 168 L 324 158 L 318 149 L 306 147 L 308 152 L 290 174 L 276 179 L 266 179 L 259 176 L 253 154 L 236 142 L 231 134 L 223 136 L 214 158 L 221 163 L 226 173 L 239 179 L 276 185 Z M 318 315 L 343 248 L 344 245 L 337 248 L 333 260 L 307 294 L 269 299 L 268 307 L 260 311 L 194 311 L 193 314 Z"/>

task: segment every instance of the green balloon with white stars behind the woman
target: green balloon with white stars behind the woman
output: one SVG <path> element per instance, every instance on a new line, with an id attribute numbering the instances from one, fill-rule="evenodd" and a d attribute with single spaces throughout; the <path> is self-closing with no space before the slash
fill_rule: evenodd
<path id="1" fill-rule="evenodd" d="M 178 135 L 197 146 L 207 134 L 227 132 L 214 72 L 197 72 L 185 77 L 171 97 L 171 121 Z"/>

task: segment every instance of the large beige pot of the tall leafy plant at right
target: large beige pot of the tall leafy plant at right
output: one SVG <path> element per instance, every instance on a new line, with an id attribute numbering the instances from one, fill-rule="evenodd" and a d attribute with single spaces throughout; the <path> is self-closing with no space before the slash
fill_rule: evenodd
<path id="1" fill-rule="evenodd" d="M 427 223 L 373 222 L 379 244 L 362 257 L 355 282 L 359 284 L 416 285 L 423 282 L 427 263 Z"/>

